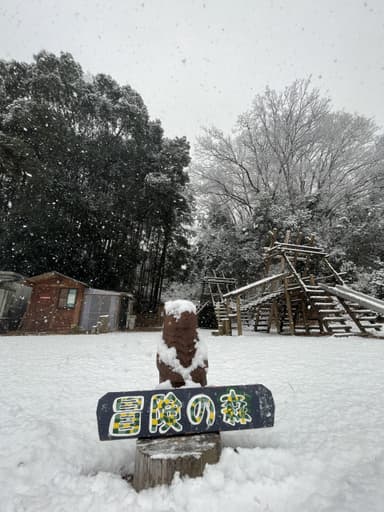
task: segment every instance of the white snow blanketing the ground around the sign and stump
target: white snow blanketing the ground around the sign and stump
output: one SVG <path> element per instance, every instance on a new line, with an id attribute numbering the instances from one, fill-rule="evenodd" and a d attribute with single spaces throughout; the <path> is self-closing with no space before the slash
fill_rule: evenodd
<path id="1" fill-rule="evenodd" d="M 2 512 L 384 509 L 384 341 L 213 337 L 210 385 L 261 383 L 276 426 L 222 434 L 217 465 L 136 493 L 135 441 L 100 442 L 108 391 L 157 384 L 160 333 L 0 337 Z"/>

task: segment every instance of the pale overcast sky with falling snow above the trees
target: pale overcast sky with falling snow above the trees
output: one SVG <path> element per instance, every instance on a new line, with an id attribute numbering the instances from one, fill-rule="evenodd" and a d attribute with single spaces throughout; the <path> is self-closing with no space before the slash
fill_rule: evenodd
<path id="1" fill-rule="evenodd" d="M 130 84 L 192 143 L 309 75 L 335 109 L 384 126 L 384 0 L 0 0 L 0 58 L 41 49 Z"/>

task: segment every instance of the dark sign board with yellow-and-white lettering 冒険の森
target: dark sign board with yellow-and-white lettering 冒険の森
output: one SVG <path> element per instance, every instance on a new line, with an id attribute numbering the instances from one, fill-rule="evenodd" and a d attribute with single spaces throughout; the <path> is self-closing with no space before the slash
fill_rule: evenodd
<path id="1" fill-rule="evenodd" d="M 107 393 L 98 402 L 101 441 L 272 427 L 272 393 L 261 384 Z"/>

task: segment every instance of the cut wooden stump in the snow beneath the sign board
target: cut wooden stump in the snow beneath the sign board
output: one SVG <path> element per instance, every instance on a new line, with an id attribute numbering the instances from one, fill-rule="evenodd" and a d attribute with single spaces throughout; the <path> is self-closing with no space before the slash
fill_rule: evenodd
<path id="1" fill-rule="evenodd" d="M 172 482 L 176 472 L 191 478 L 202 476 L 206 464 L 216 464 L 221 453 L 219 433 L 139 439 L 136 444 L 133 487 L 148 487 Z"/>

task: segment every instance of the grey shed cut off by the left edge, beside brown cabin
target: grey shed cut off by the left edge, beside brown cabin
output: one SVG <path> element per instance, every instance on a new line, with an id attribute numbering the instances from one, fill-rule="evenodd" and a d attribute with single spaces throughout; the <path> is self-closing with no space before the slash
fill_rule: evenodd
<path id="1" fill-rule="evenodd" d="M 31 288 L 24 276 L 16 272 L 0 272 L 0 332 L 15 331 L 27 308 Z"/>

